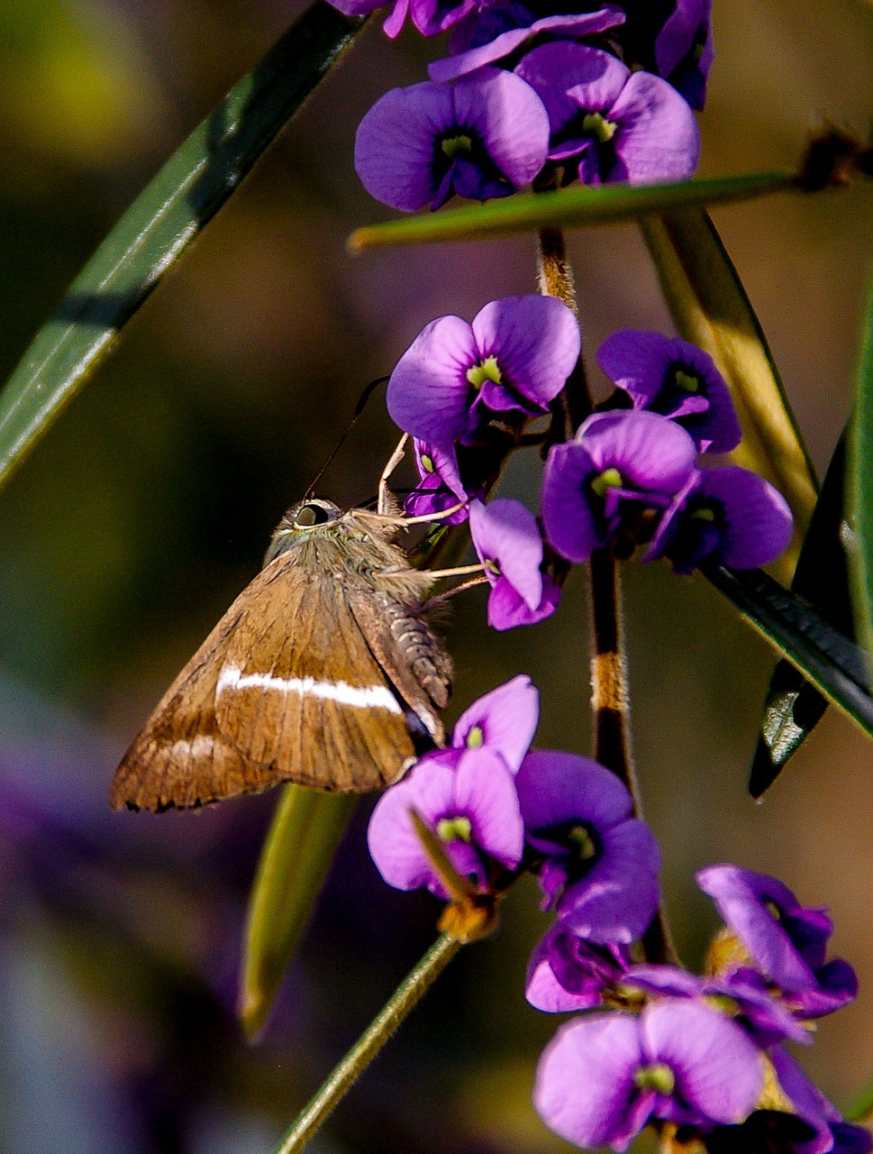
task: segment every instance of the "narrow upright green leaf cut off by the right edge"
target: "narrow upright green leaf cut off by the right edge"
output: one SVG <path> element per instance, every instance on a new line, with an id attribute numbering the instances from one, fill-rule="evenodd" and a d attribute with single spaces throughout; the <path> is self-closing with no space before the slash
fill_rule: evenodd
<path id="1" fill-rule="evenodd" d="M 846 495 L 855 532 L 849 563 L 856 628 L 867 653 L 873 653 L 873 282 L 861 338 Z"/>

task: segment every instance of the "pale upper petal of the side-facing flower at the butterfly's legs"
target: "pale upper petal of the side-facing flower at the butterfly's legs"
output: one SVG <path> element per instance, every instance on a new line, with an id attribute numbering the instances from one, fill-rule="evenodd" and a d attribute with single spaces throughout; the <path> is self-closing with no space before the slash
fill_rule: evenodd
<path id="1" fill-rule="evenodd" d="M 498 497 L 469 507 L 469 533 L 479 560 L 491 562 L 530 609 L 542 600 L 543 545 L 536 517 L 521 502 Z M 489 580 L 497 577 L 488 569 Z"/>

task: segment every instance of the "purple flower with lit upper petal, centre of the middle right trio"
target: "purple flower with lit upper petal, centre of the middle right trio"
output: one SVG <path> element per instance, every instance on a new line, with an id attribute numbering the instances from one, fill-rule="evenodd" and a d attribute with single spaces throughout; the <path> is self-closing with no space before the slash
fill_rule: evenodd
<path id="1" fill-rule="evenodd" d="M 545 539 L 567 561 L 612 541 L 620 556 L 650 539 L 657 517 L 688 481 L 697 447 L 657 413 L 595 413 L 545 463 Z"/>

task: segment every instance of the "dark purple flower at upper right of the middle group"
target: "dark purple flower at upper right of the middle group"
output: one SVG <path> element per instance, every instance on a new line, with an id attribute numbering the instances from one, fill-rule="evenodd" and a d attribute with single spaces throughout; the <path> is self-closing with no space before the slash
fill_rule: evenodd
<path id="1" fill-rule="evenodd" d="M 739 444 L 743 430 L 730 390 L 713 358 L 697 345 L 622 329 L 600 346 L 597 364 L 634 409 L 671 418 L 701 452 L 729 452 Z"/>

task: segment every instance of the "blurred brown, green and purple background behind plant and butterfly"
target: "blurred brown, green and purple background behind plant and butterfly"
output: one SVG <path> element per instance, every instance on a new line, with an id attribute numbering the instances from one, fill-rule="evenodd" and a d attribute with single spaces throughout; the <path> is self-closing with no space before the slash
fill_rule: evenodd
<path id="1" fill-rule="evenodd" d="M 0 0 L 0 379 L 170 152 L 299 8 L 279 0 Z M 701 174 L 795 163 L 811 121 L 866 132 L 873 7 L 716 0 Z M 234 1016 L 247 891 L 274 797 L 111 814 L 114 766 L 257 571 L 363 387 L 429 320 L 533 287 L 525 240 L 356 260 L 387 213 L 352 167 L 355 125 L 424 76 L 434 44 L 378 23 L 127 328 L 0 496 L 0 1148 L 262 1154 L 427 947 L 438 907 L 390 891 L 359 807 L 264 1041 Z M 873 192 L 715 213 L 820 472 L 845 421 Z M 572 238 L 589 354 L 671 331 L 632 228 Z M 600 382 L 601 387 L 603 382 Z M 397 433 L 374 400 L 321 485 L 369 497 Z M 536 459 L 504 494 L 536 508 Z M 694 870 L 731 860 L 830 907 L 861 980 L 807 1071 L 837 1102 L 873 1073 L 873 748 L 833 710 L 761 805 L 746 793 L 773 664 L 705 582 L 627 568 L 633 739 L 667 906 L 699 964 L 715 916 Z M 457 607 L 450 720 L 517 673 L 540 745 L 587 751 L 584 582 L 535 629 Z M 322 1152 L 557 1151 L 529 1106 L 557 1022 L 524 1001 L 548 924 L 533 886 L 464 951 L 355 1087 Z M 564 1147 L 566 1148 L 566 1147 Z"/>

